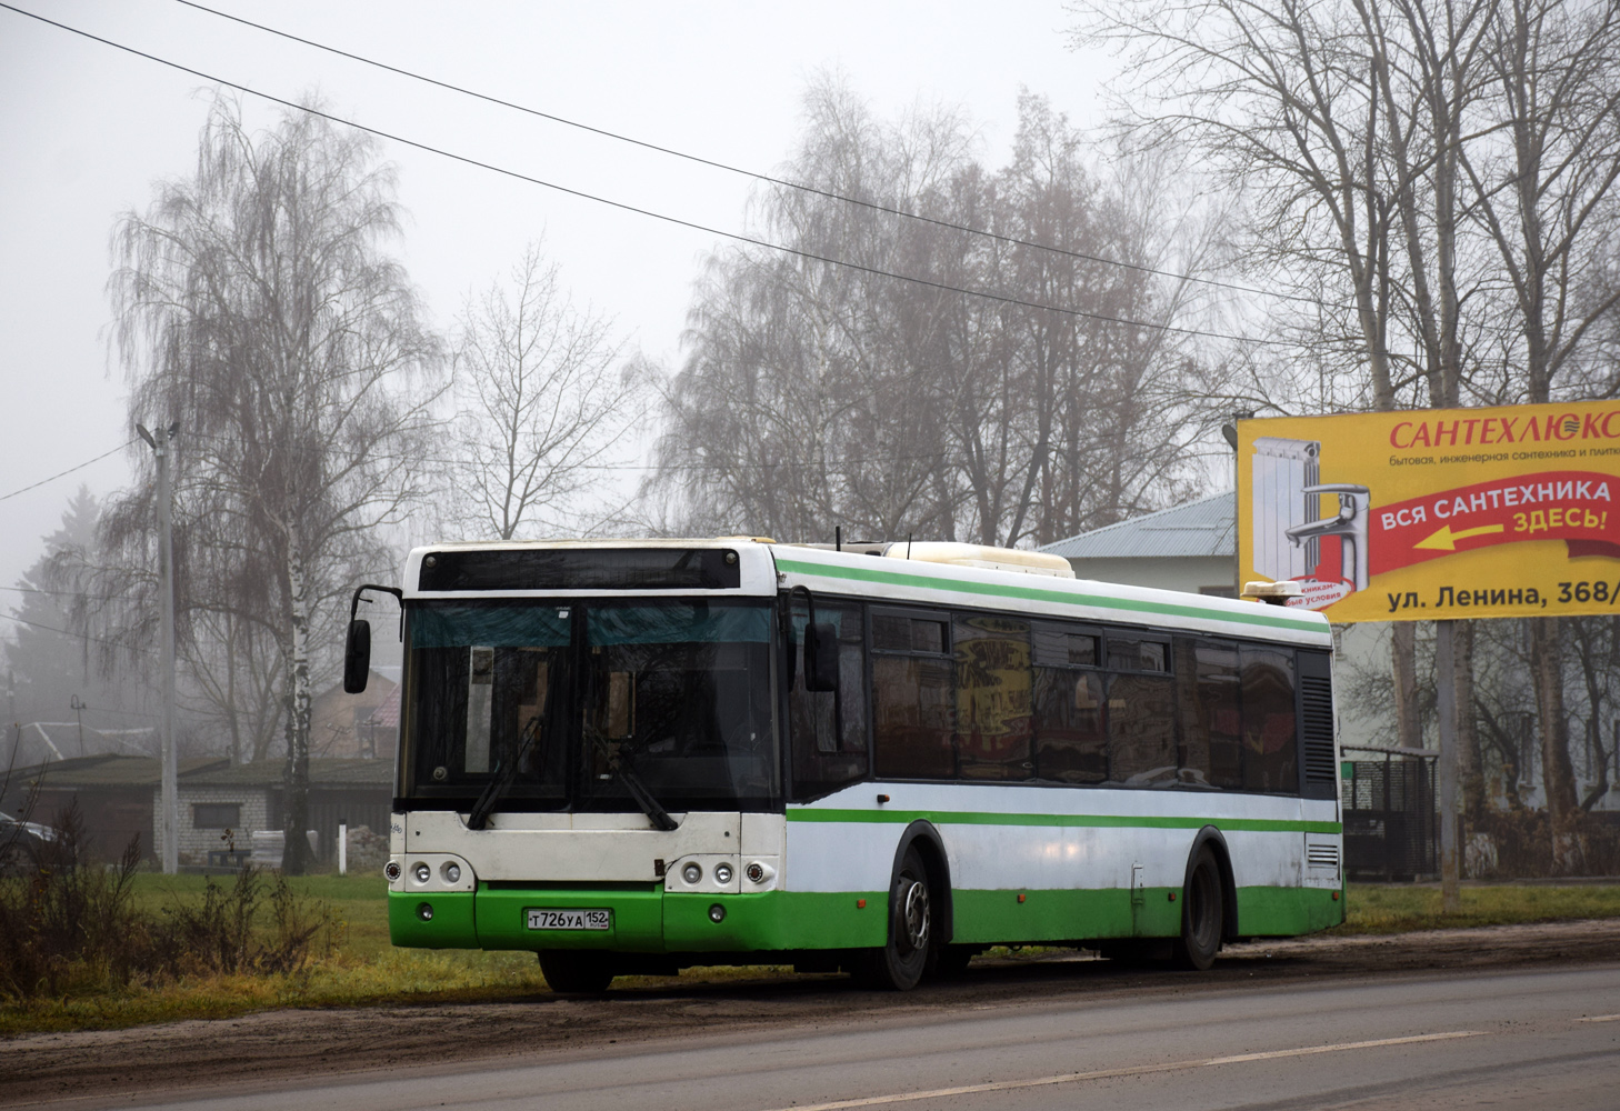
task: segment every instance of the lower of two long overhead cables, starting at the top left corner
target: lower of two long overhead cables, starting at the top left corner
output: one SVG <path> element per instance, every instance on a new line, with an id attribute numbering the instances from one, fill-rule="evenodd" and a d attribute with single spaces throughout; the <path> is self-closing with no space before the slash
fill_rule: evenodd
<path id="1" fill-rule="evenodd" d="M 765 248 L 768 251 L 781 251 L 782 254 L 792 254 L 795 258 L 808 259 L 812 262 L 825 262 L 828 266 L 838 266 L 838 267 L 844 267 L 847 270 L 857 270 L 860 274 L 870 274 L 873 277 L 886 277 L 886 279 L 894 279 L 897 282 L 910 282 L 914 285 L 922 285 L 922 287 L 927 287 L 927 288 L 941 290 L 944 293 L 961 293 L 962 296 L 978 296 L 978 298 L 985 298 L 988 301 L 996 301 L 996 303 L 1001 303 L 1001 304 L 1016 304 L 1019 308 L 1027 308 L 1027 309 L 1040 309 L 1040 311 L 1045 311 L 1045 313 L 1058 313 L 1059 316 L 1072 316 L 1072 317 L 1087 319 L 1087 321 L 1102 321 L 1105 324 L 1124 324 L 1124 326 L 1129 326 L 1129 327 L 1150 329 L 1150 330 L 1155 330 L 1155 332 L 1174 332 L 1176 335 L 1189 335 L 1189 337 L 1200 337 L 1200 338 L 1210 338 L 1210 340 L 1231 340 L 1231 342 L 1236 342 L 1236 343 L 1254 343 L 1257 347 L 1291 347 L 1286 340 L 1264 340 L 1264 338 L 1254 338 L 1254 337 L 1247 337 L 1247 335 L 1234 335 L 1234 334 L 1230 334 L 1230 332 L 1210 332 L 1210 330 L 1205 330 L 1205 329 L 1178 327 L 1174 324 L 1153 324 L 1150 321 L 1134 321 L 1134 319 L 1124 317 L 1124 316 L 1108 316 L 1108 314 L 1103 314 L 1103 313 L 1087 313 L 1084 309 L 1059 308 L 1056 304 L 1042 304 L 1040 301 L 1025 301 L 1024 298 L 1009 296 L 1009 295 L 1004 295 L 1004 293 L 991 293 L 988 290 L 964 290 L 961 287 L 948 285 L 944 282 L 935 282 L 932 279 L 914 277 L 914 275 L 909 275 L 909 274 L 894 274 L 891 270 L 883 270 L 883 269 L 878 269 L 875 266 L 863 266 L 860 262 L 849 262 L 846 259 L 834 259 L 834 258 L 825 256 L 825 254 L 816 254 L 813 251 L 805 251 L 802 248 L 784 246 L 781 243 L 771 243 L 768 240 L 760 240 L 760 238 L 755 238 L 755 236 L 750 236 L 750 235 L 742 235 L 740 232 L 726 232 L 726 230 L 721 230 L 721 228 L 716 228 L 716 227 L 710 227 L 706 223 L 698 223 L 695 220 L 685 220 L 685 219 L 680 219 L 680 217 L 676 217 L 676 215 L 667 215 L 664 212 L 654 212 L 653 209 L 643 209 L 643 207 L 638 207 L 635 204 L 629 204 L 627 201 L 614 201 L 611 198 L 598 196 L 595 193 L 585 193 L 583 189 L 573 189 L 570 186 L 559 185 L 556 181 L 548 181 L 544 178 L 536 178 L 536 177 L 531 177 L 528 173 L 520 173 L 518 170 L 510 170 L 507 167 L 496 165 L 494 162 L 483 162 L 483 160 L 475 159 L 475 157 L 467 155 L 467 154 L 455 154 L 454 151 L 447 151 L 444 147 L 436 147 L 436 146 L 431 146 L 428 143 L 420 143 L 416 139 L 407 139 L 405 136 L 395 134 L 392 131 L 382 131 L 381 128 L 366 126 L 364 123 L 355 123 L 353 120 L 347 120 L 347 118 L 343 118 L 340 115 L 332 115 L 330 112 L 322 112 L 319 109 L 311 109 L 306 104 L 298 104 L 295 100 L 287 100 L 285 97 L 279 97 L 279 96 L 274 96 L 271 92 L 261 92 L 261 91 L 253 89 L 253 87 L 249 87 L 246 84 L 241 84 L 238 81 L 228 81 L 225 78 L 215 76 L 215 74 L 207 73 L 204 70 L 196 70 L 193 66 L 181 65 L 178 62 L 170 62 L 168 58 L 160 58 L 156 53 L 147 53 L 146 50 L 138 50 L 134 47 L 125 45 L 122 42 L 115 42 L 112 39 L 104 39 L 102 36 L 91 34 L 89 31 L 81 31 L 79 28 L 73 28 L 73 26 L 68 26 L 65 23 L 58 23 L 55 19 L 50 19 L 50 18 L 42 16 L 39 13 L 34 13 L 34 11 L 26 11 L 26 10 L 13 6 L 10 3 L 0 3 L 0 8 L 5 8 L 6 11 L 15 11 L 16 15 L 21 15 L 21 16 L 28 16 L 29 19 L 37 19 L 39 23 L 44 23 L 44 24 L 52 26 L 52 28 L 57 28 L 58 31 L 68 31 L 70 34 L 76 34 L 76 36 L 79 36 L 83 39 L 89 39 L 91 42 L 99 42 L 102 45 L 112 47 L 115 50 L 123 50 L 125 53 L 134 55 L 138 58 L 144 58 L 147 62 L 156 62 L 157 65 L 164 65 L 164 66 L 168 66 L 172 70 L 178 70 L 180 73 L 190 73 L 194 78 L 201 78 L 204 81 L 212 81 L 215 84 L 222 84 L 222 86 L 227 86 L 230 89 L 237 89 L 240 92 L 246 92 L 248 96 L 259 97 L 261 100 L 269 100 L 271 104 L 279 104 L 279 105 L 282 105 L 285 109 L 292 109 L 293 112 L 303 112 L 306 115 L 313 115 L 316 118 L 327 120 L 330 123 L 339 123 L 339 125 L 342 125 L 345 128 L 353 128 L 355 131 L 363 131 L 366 134 L 374 134 L 379 139 L 387 139 L 390 143 L 399 143 L 400 146 L 407 146 L 407 147 L 411 147 L 411 149 L 416 149 L 416 151 L 424 151 L 428 154 L 437 154 L 441 157 L 452 159 L 455 162 L 462 162 L 465 165 L 471 165 L 471 167 L 476 167 L 480 170 L 489 170 L 491 173 L 499 173 L 502 177 L 509 177 L 509 178 L 514 178 L 517 181 L 528 181 L 530 185 L 538 185 L 541 188 L 552 189 L 552 191 L 562 193 L 565 196 L 578 198 L 582 201 L 593 201 L 596 204 L 604 204 L 608 207 L 619 209 L 620 212 L 633 212 L 637 215 L 645 215 L 645 217 L 650 217 L 653 220 L 663 220 L 666 223 L 674 223 L 677 227 L 690 228 L 693 232 L 703 232 L 705 235 L 718 235 L 721 238 L 734 240 L 737 243 L 747 243 L 750 246 Z"/>

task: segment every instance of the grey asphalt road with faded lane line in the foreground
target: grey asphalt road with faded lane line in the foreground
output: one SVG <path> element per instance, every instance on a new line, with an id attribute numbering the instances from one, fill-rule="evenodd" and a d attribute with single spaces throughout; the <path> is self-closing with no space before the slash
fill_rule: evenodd
<path id="1" fill-rule="evenodd" d="M 462 1033 L 465 1037 L 465 1032 Z M 998 1001 L 105 1105 L 343 1111 L 1620 1108 L 1620 967 Z M 71 1100 L 96 1106 L 99 1100 Z M 63 1106 L 63 1105 L 58 1105 Z"/>

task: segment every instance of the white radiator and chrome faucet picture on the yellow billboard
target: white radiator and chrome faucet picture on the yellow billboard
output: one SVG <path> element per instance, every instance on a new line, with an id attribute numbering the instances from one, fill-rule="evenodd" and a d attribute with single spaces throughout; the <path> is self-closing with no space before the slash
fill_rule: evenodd
<path id="1" fill-rule="evenodd" d="M 1270 580 L 1294 580 L 1296 604 L 1325 609 L 1367 590 L 1371 491 L 1320 481 L 1320 441 L 1280 436 L 1254 439 L 1249 462 L 1254 568 Z M 1338 509 L 1324 517 L 1324 496 Z"/>

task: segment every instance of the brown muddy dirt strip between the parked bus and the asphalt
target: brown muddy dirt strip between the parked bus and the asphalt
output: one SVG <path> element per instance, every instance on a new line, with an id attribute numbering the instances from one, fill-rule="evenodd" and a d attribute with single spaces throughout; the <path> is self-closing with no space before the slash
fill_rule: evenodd
<path id="1" fill-rule="evenodd" d="M 787 1025 L 849 1024 L 857 1015 L 901 1022 L 954 1015 L 969 1006 L 1074 996 L 1599 962 L 1620 962 L 1620 920 L 1252 943 L 1225 949 L 1207 973 L 1128 968 L 1076 952 L 980 957 L 961 978 L 907 994 L 855 991 L 841 977 L 737 978 L 693 970 L 630 981 L 590 999 L 536 994 L 504 1004 L 271 1011 L 134 1030 L 24 1035 L 0 1043 L 0 1106 L 434 1066 L 447 1046 L 455 1046 L 458 1061 L 603 1053 L 714 1030 L 747 1038 Z"/>

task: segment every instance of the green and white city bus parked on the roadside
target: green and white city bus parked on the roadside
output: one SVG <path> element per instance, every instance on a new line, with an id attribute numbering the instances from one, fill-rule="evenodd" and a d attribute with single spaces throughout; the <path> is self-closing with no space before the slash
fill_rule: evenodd
<path id="1" fill-rule="evenodd" d="M 906 990 L 1343 920 L 1317 614 L 904 541 L 441 544 L 368 590 L 403 606 L 397 946 Z M 350 688 L 368 653 L 352 614 Z"/>

